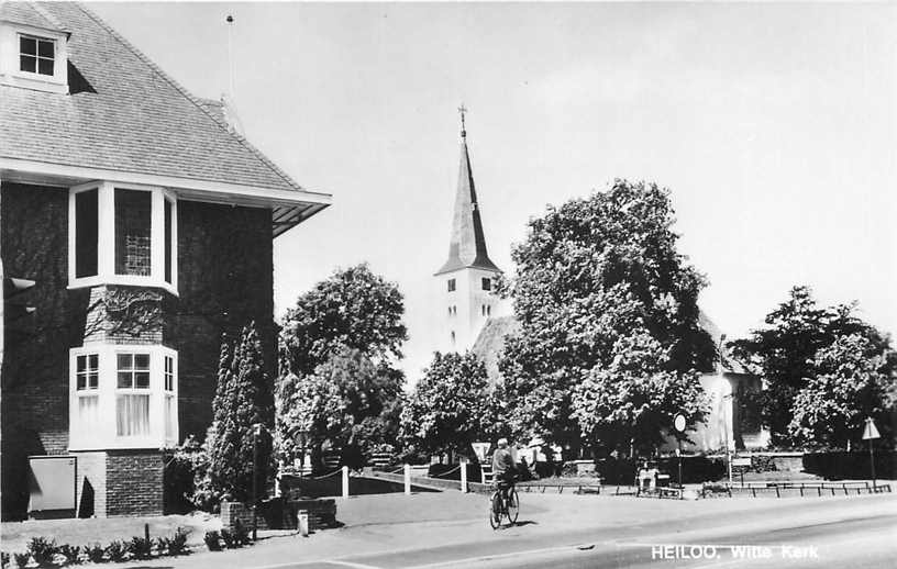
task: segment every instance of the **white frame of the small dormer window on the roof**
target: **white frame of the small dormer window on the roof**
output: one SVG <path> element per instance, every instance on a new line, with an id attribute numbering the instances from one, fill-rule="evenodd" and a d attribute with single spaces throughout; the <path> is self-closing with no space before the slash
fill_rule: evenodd
<path id="1" fill-rule="evenodd" d="M 23 71 L 19 65 L 19 38 L 53 42 L 53 75 Z M 0 83 L 26 89 L 68 93 L 68 34 L 32 25 L 0 22 Z"/>

